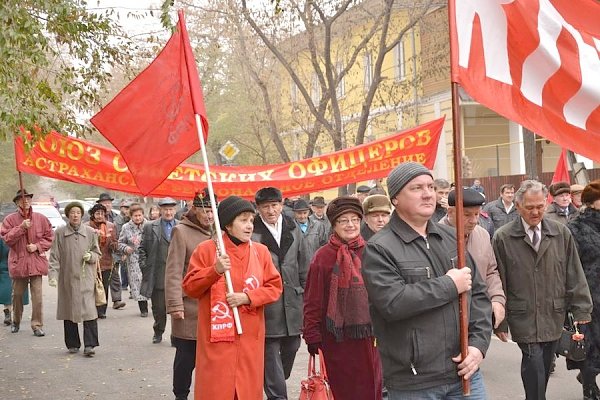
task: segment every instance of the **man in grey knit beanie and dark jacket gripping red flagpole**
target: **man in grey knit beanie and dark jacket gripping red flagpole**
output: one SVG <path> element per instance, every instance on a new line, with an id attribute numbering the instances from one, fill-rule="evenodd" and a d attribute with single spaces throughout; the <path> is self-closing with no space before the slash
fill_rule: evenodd
<path id="1" fill-rule="evenodd" d="M 461 380 L 470 379 L 471 395 L 485 398 L 478 371 L 492 332 L 485 284 L 471 273 L 471 258 L 466 267 L 453 268 L 456 235 L 432 221 L 431 172 L 402 163 L 388 175 L 387 186 L 394 211 L 367 243 L 362 275 L 389 397 L 461 398 Z M 461 293 L 469 308 L 465 359 L 457 323 Z"/>

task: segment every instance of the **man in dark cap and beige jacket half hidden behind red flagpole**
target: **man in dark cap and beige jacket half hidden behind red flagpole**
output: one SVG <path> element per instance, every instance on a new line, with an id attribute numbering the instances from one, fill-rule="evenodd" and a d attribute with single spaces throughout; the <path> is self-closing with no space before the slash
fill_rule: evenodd
<path id="1" fill-rule="evenodd" d="M 463 189 L 463 221 L 465 227 L 466 248 L 487 287 L 487 294 L 492 301 L 493 325 L 497 328 L 504 320 L 506 295 L 502 289 L 502 280 L 496 264 L 496 256 L 487 230 L 478 225 L 479 212 L 485 198 L 475 189 Z M 456 226 L 456 193 L 448 194 L 448 211 L 439 223 Z"/>

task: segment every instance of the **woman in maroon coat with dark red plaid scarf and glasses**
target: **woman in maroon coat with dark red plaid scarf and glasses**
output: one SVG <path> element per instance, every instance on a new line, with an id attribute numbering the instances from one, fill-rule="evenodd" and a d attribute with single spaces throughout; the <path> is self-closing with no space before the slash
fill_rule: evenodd
<path id="1" fill-rule="evenodd" d="M 361 275 L 362 206 L 338 197 L 327 206 L 333 234 L 312 259 L 304 292 L 304 340 L 323 352 L 333 397 L 380 400 L 382 375 Z"/>

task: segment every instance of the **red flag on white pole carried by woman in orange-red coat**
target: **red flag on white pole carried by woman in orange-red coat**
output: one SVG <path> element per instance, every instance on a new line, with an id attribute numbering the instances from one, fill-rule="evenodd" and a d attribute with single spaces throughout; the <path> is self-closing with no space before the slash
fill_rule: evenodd
<path id="1" fill-rule="evenodd" d="M 152 192 L 200 146 L 194 114 L 208 120 L 196 62 L 179 11 L 177 29 L 154 61 L 91 122 L 117 148 L 137 187 Z"/>

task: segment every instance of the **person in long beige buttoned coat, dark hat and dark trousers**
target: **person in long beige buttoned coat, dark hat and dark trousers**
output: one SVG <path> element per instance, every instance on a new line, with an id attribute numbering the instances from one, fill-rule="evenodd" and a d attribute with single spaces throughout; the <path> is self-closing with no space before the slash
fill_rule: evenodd
<path id="1" fill-rule="evenodd" d="M 94 347 L 98 346 L 94 285 L 101 253 L 96 231 L 81 223 L 81 203 L 69 203 L 65 215 L 69 222 L 56 230 L 50 250 L 48 283 L 58 287 L 56 319 L 64 320 L 69 353 L 77 353 L 81 347 L 77 324 L 83 321 L 83 354 L 91 357 L 95 354 Z"/>

